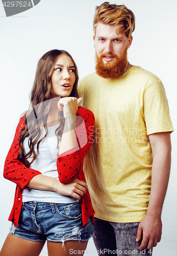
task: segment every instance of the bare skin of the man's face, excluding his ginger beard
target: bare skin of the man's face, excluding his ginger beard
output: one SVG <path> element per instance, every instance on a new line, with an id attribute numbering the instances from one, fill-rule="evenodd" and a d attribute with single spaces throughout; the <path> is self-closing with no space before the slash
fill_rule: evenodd
<path id="1" fill-rule="evenodd" d="M 124 32 L 118 31 L 122 26 L 122 24 L 109 26 L 102 23 L 97 25 L 94 36 L 96 53 L 98 57 L 102 54 L 102 60 L 106 65 L 116 60 L 111 54 L 116 54 L 121 59 L 131 45 L 132 36 L 126 37 Z"/>

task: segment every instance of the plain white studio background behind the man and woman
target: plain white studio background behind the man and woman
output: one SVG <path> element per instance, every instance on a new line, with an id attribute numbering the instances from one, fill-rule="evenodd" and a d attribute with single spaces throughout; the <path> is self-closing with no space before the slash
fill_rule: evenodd
<path id="1" fill-rule="evenodd" d="M 104 0 L 103 0 L 104 1 Z M 8 234 L 7 221 L 13 204 L 15 184 L 3 178 L 6 155 L 21 113 L 29 108 L 29 93 L 39 58 L 49 50 L 63 49 L 75 59 L 79 77 L 95 71 L 93 16 L 99 0 L 41 0 L 34 8 L 6 17 L 0 3 L 0 72 L 1 72 L 1 211 L 0 248 Z M 115 3 L 115 2 L 110 2 Z M 120 0 L 136 16 L 134 39 L 128 50 L 132 65 L 141 66 L 162 79 L 165 86 L 174 130 L 176 120 L 176 0 Z M 96 86 L 96 85 L 95 85 Z M 92 92 L 94 93 L 94 92 Z M 106 95 L 105 95 L 106 97 Z M 177 253 L 176 210 L 176 132 L 171 134 L 172 165 L 162 221 L 162 240 L 153 255 Z M 95 254 L 91 239 L 88 254 Z M 85 253 L 86 254 L 86 253 Z M 46 246 L 40 254 L 47 255 Z"/>

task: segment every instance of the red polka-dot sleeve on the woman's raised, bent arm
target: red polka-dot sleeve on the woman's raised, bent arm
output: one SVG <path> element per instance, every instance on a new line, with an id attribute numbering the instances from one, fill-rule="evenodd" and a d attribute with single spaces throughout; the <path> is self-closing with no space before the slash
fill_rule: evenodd
<path id="1" fill-rule="evenodd" d="M 83 159 L 93 143 L 94 125 L 94 114 L 80 107 L 76 120 L 78 146 L 57 156 L 57 170 L 61 183 L 73 181 L 83 169 Z"/>

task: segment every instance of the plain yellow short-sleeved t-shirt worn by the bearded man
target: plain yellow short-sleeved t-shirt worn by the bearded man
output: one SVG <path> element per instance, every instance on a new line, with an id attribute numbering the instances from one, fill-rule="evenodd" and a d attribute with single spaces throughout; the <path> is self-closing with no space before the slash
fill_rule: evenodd
<path id="1" fill-rule="evenodd" d="M 93 145 L 84 160 L 95 217 L 139 222 L 151 188 L 148 135 L 173 131 L 163 84 L 133 66 L 117 79 L 93 73 L 81 79 L 79 88 L 83 106 L 96 121 Z"/>

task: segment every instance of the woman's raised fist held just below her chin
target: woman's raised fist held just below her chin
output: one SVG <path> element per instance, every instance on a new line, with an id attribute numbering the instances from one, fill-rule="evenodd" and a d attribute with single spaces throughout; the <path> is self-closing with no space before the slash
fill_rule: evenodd
<path id="1" fill-rule="evenodd" d="M 75 97 L 60 98 L 58 101 L 58 108 L 60 111 L 63 111 L 64 117 L 75 116 L 82 100 L 83 98 L 77 99 Z"/>

